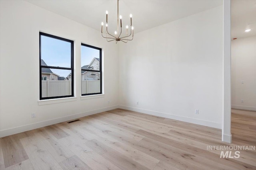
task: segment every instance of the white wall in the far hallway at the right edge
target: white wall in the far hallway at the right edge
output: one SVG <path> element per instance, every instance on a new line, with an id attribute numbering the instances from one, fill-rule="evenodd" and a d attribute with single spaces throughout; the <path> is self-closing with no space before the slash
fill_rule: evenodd
<path id="1" fill-rule="evenodd" d="M 231 90 L 232 108 L 256 111 L 256 36 L 231 41 Z"/>

